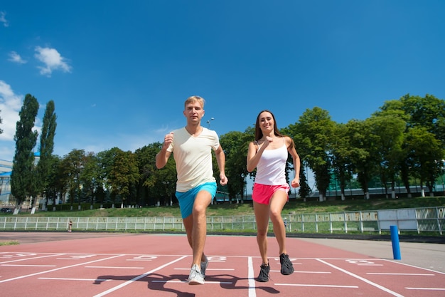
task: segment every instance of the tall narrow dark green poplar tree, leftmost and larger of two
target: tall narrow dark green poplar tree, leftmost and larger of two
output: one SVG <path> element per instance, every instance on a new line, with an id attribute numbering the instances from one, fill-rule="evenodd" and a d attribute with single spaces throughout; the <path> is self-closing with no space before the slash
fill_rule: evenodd
<path id="1" fill-rule="evenodd" d="M 16 198 L 18 214 L 21 204 L 27 196 L 36 193 L 36 177 L 34 174 L 34 153 L 38 133 L 33 131 L 38 113 L 38 102 L 31 94 L 26 94 L 23 106 L 18 113 L 20 120 L 16 124 L 16 152 L 11 172 L 11 194 Z"/>

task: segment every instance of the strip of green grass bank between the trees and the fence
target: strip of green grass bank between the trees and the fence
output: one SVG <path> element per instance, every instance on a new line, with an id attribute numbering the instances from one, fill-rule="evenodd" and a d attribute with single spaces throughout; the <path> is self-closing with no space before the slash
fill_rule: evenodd
<path id="1" fill-rule="evenodd" d="M 318 202 L 311 199 L 303 202 L 301 199 L 291 200 L 283 209 L 283 214 L 296 212 L 297 214 L 311 214 L 321 212 L 354 212 L 377 209 L 400 209 L 419 207 L 444 207 L 445 197 L 414 197 L 414 198 L 373 198 L 373 199 L 340 199 Z M 74 205 L 77 207 L 77 204 Z M 252 202 L 213 204 L 208 207 L 208 216 L 237 216 L 253 215 Z M 12 214 L 1 214 L 11 216 Z M 21 212 L 18 216 L 31 216 L 29 212 Z M 114 209 L 92 209 L 84 211 L 60 211 L 42 212 L 38 211 L 33 217 L 181 217 L 178 205 L 172 207 L 143 207 L 134 208 L 114 208 Z"/>

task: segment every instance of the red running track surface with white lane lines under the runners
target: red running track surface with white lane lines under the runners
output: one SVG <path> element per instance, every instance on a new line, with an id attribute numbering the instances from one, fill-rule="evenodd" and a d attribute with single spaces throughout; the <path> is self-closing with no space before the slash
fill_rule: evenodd
<path id="1" fill-rule="evenodd" d="M 279 259 L 273 257 L 278 247 L 269 238 L 271 280 L 259 283 L 254 237 L 208 236 L 205 284 L 189 286 L 191 249 L 183 235 L 102 234 L 0 246 L 0 292 L 9 297 L 445 296 L 444 273 L 295 238 L 287 239 L 287 250 L 295 269 L 291 276 L 279 273 Z"/>

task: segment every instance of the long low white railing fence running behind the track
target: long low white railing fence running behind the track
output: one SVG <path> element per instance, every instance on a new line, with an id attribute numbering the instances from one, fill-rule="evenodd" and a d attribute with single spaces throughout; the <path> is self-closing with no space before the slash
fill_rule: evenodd
<path id="1" fill-rule="evenodd" d="M 288 231 L 333 233 L 348 231 L 381 232 L 391 225 L 400 231 L 442 232 L 445 207 L 388 209 L 365 212 L 284 214 Z M 60 231 L 184 231 L 181 217 L 0 217 L 0 230 Z M 272 227 L 272 226 L 271 226 Z M 210 216 L 208 231 L 254 231 L 254 216 Z M 272 230 L 272 229 L 271 229 Z"/>

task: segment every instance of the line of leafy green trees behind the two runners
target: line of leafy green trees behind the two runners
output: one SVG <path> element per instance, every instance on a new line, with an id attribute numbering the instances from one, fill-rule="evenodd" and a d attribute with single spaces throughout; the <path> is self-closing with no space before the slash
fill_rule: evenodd
<path id="1" fill-rule="evenodd" d="M 16 152 L 11 173 L 11 194 L 16 209 L 25 199 L 43 197 L 46 204 L 56 199 L 74 204 L 113 203 L 133 206 L 168 205 L 176 202 L 176 166 L 174 159 L 157 170 L 155 156 L 161 143 L 154 142 L 131 151 L 118 147 L 102 152 L 74 149 L 60 157 L 53 154 L 55 105 L 50 100 L 45 109 L 38 155 L 35 147 L 38 133 L 33 131 L 38 111 L 36 98 L 28 94 L 16 125 Z M 1 120 L 0 120 L 1 123 Z M 369 184 L 378 179 L 387 195 L 395 195 L 395 185 L 402 183 L 411 196 L 412 179 L 419 180 L 421 189 L 434 192 L 434 184 L 444 173 L 445 101 L 433 95 L 404 95 L 388 100 L 370 118 L 336 123 L 327 110 L 306 109 L 294 124 L 280 131 L 292 137 L 301 158 L 301 168 L 314 175 L 320 201 L 334 181 L 340 187 L 341 198 L 351 182 L 359 184 L 369 198 Z M 229 197 L 245 197 L 248 178 L 255 172 L 246 169 L 249 142 L 254 140 L 254 127 L 244 132 L 232 131 L 220 135 L 226 155 L 226 175 L 230 182 L 220 187 Z M 214 165 L 216 160 L 214 158 Z M 291 158 L 286 177 L 292 172 Z M 217 172 L 218 173 L 218 172 Z M 301 170 L 300 197 L 308 197 L 307 171 Z M 218 181 L 218 174 L 215 174 Z"/>

